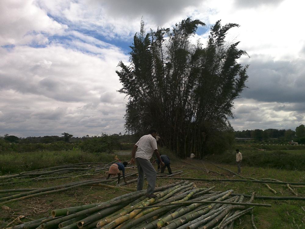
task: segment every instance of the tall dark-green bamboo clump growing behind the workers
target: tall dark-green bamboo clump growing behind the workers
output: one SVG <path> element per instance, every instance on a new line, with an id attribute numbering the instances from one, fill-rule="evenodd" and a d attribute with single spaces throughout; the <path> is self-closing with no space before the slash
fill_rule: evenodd
<path id="1" fill-rule="evenodd" d="M 210 28 L 204 47 L 194 35 L 200 20 L 182 20 L 173 29 L 146 34 L 144 22 L 134 36 L 130 64 L 119 63 L 117 75 L 128 97 L 125 127 L 132 133 L 156 128 L 163 143 L 180 157 L 222 150 L 232 140 L 233 101 L 246 87 L 248 66 L 237 61 L 239 42 L 226 42 L 238 24 Z M 217 140 L 217 142 L 216 142 Z"/>

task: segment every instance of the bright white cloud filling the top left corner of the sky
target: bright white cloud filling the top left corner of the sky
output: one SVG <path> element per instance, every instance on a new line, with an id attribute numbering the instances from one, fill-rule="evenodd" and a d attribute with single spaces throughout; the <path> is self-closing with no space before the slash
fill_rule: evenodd
<path id="1" fill-rule="evenodd" d="M 48 17 L 33 0 L 0 1 L 0 21 L 0 45 L 42 44 L 47 38 L 41 32 L 53 35 L 67 28 Z"/>

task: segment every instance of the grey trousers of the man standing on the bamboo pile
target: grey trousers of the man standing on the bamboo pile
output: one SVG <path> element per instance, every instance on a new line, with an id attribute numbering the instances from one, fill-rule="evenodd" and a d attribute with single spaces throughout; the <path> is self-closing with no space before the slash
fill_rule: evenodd
<path id="1" fill-rule="evenodd" d="M 137 191 L 143 189 L 144 184 L 144 175 L 146 176 L 146 180 L 148 182 L 147 194 L 152 194 L 155 191 L 156 186 L 156 170 L 152 166 L 149 160 L 143 158 L 135 158 L 138 166 L 138 184 Z"/>

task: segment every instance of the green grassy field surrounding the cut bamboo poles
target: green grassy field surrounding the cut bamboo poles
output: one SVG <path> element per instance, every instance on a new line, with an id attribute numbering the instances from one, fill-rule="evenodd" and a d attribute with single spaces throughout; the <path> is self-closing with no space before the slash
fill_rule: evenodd
<path id="1" fill-rule="evenodd" d="M 242 150 L 241 150 L 242 151 Z M 128 154 L 129 152 L 129 154 Z M 259 152 L 259 151 L 257 151 Z M 276 151 L 263 151 L 267 154 L 272 154 Z M 289 151 L 289 155 L 302 156 L 302 152 L 304 151 L 298 150 L 296 152 Z M 43 153 L 44 156 L 42 155 Z M 130 158 L 130 151 L 119 151 L 116 152 L 118 157 L 122 160 Z M 170 154 L 170 152 L 165 151 L 165 154 Z M 242 151 L 244 159 L 246 159 L 249 155 L 255 154 L 255 151 L 252 149 L 250 151 Z M 228 152 L 230 154 L 230 152 Z M 285 154 L 287 155 L 287 154 Z M 284 155 L 284 156 L 285 156 Z M 17 161 L 18 165 L 23 165 L 23 167 L 19 166 L 18 170 L 31 170 L 36 168 L 38 165 L 33 165 L 33 167 L 29 166 L 29 163 L 34 163 L 35 158 L 36 161 L 39 158 L 40 162 L 38 163 L 41 167 L 50 167 L 54 164 L 68 164 L 68 163 L 78 163 L 78 162 L 88 162 L 88 161 L 111 161 L 113 160 L 114 154 L 84 154 L 80 151 L 63 151 L 63 152 L 37 152 L 31 153 L 28 155 L 19 155 L 19 154 L 9 154 L 2 155 L 5 156 L 5 163 L 2 162 L 1 166 L 6 167 L 8 163 L 12 161 Z M 232 156 L 232 155 L 231 155 Z M 45 157 L 45 158 L 43 158 Z M 196 178 L 227 178 L 227 179 L 238 179 L 238 177 L 230 174 L 228 171 L 217 168 L 210 162 L 215 162 L 217 165 L 230 169 L 236 172 L 236 166 L 234 163 L 231 163 L 228 158 L 228 163 L 224 160 L 221 162 L 220 158 L 214 155 L 206 158 L 204 160 L 204 164 L 202 161 L 193 160 L 188 161 L 194 165 L 199 166 L 195 167 L 190 164 L 184 163 L 178 159 L 175 159 L 171 156 L 172 163 L 171 167 L 173 170 L 181 170 L 183 169 L 183 173 L 188 173 L 183 177 L 196 177 Z M 20 159 L 22 158 L 22 159 Z M 31 159 L 27 159 L 31 158 Z M 48 159 L 49 158 L 49 159 Z M 52 159 L 53 158 L 53 159 Z M 65 158 L 65 159 L 63 159 Z M 284 158 L 285 159 L 285 158 Z M 232 160 L 232 158 L 231 158 Z M 49 162 L 49 163 L 48 163 Z M 234 162 L 234 155 L 233 155 Z M 264 164 L 265 165 L 265 164 Z M 303 164 L 304 165 L 304 164 Z M 12 165 L 9 165 L 12 166 Z M 38 167 L 39 167 L 38 166 Z M 207 173 L 205 169 L 213 170 L 221 173 L 218 175 L 216 173 Z M 136 171 L 136 169 L 129 169 L 130 171 Z M 130 172 L 127 171 L 127 172 Z M 272 167 L 264 167 L 264 166 L 249 166 L 246 164 L 242 165 L 242 175 L 253 178 L 274 178 L 282 181 L 290 181 L 290 182 L 305 182 L 305 171 L 302 170 L 289 170 L 289 169 L 276 169 Z M 35 182 L 24 182 L 18 184 L 10 184 L 0 187 L 1 189 L 11 189 L 11 188 L 33 188 L 33 187 L 51 187 L 58 184 L 70 183 L 78 180 L 88 180 L 100 178 L 101 176 L 90 176 L 84 178 L 74 178 L 74 179 L 57 179 L 57 180 L 47 180 L 47 181 L 35 181 Z M 127 180 L 133 179 L 134 177 L 130 177 Z M 157 178 L 157 185 L 167 184 L 170 182 L 175 182 L 174 179 L 159 179 Z M 215 191 L 226 191 L 229 189 L 233 189 L 235 193 L 243 193 L 243 194 L 251 194 L 252 192 L 256 192 L 257 195 L 265 195 L 265 196 L 294 196 L 286 186 L 280 184 L 270 184 L 270 186 L 277 191 L 277 194 L 274 195 L 265 187 L 263 184 L 251 183 L 251 182 L 204 182 L 204 181 L 195 181 L 194 182 L 197 187 L 211 187 L 215 185 Z M 115 184 L 115 182 L 113 183 Z M 136 183 L 132 183 L 127 185 L 127 187 L 135 187 Z M 298 193 L 298 196 L 305 196 L 305 187 L 293 187 L 293 189 Z M 18 216 L 21 221 L 29 221 L 30 219 L 38 219 L 44 216 L 49 215 L 50 210 L 59 209 L 68 206 L 76 206 L 76 205 L 84 205 L 90 203 L 97 202 L 105 202 L 113 197 L 122 195 L 127 193 L 126 191 L 117 189 L 107 189 L 96 186 L 84 186 L 77 189 L 72 189 L 70 191 L 65 191 L 62 193 L 49 194 L 41 197 L 35 197 L 31 199 L 26 199 L 21 202 L 14 202 L 7 204 L 9 209 L 2 208 L 0 211 L 0 226 L 1 228 L 6 228 L 12 225 L 18 224 Z M 305 201 L 279 201 L 279 200 L 255 200 L 257 203 L 268 203 L 272 205 L 272 208 L 265 207 L 255 207 L 254 209 L 254 217 L 257 228 L 305 228 Z M 302 209 L 303 207 L 303 209 Z M 15 220 L 13 223 L 11 223 Z M 7 226 L 11 223 L 9 226 Z M 245 215 L 241 218 L 241 220 L 235 221 L 235 227 L 238 229 L 249 229 L 252 228 L 250 223 L 250 216 Z"/>

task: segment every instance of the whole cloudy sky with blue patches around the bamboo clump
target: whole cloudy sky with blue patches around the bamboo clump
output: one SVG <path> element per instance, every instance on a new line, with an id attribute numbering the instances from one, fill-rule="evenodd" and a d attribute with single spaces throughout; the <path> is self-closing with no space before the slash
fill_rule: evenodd
<path id="1" fill-rule="evenodd" d="M 202 20 L 237 23 L 228 39 L 250 56 L 235 100 L 235 130 L 305 124 L 305 8 L 300 0 L 2 0 L 0 136 L 124 133 L 127 99 L 115 73 L 146 28 Z"/>

